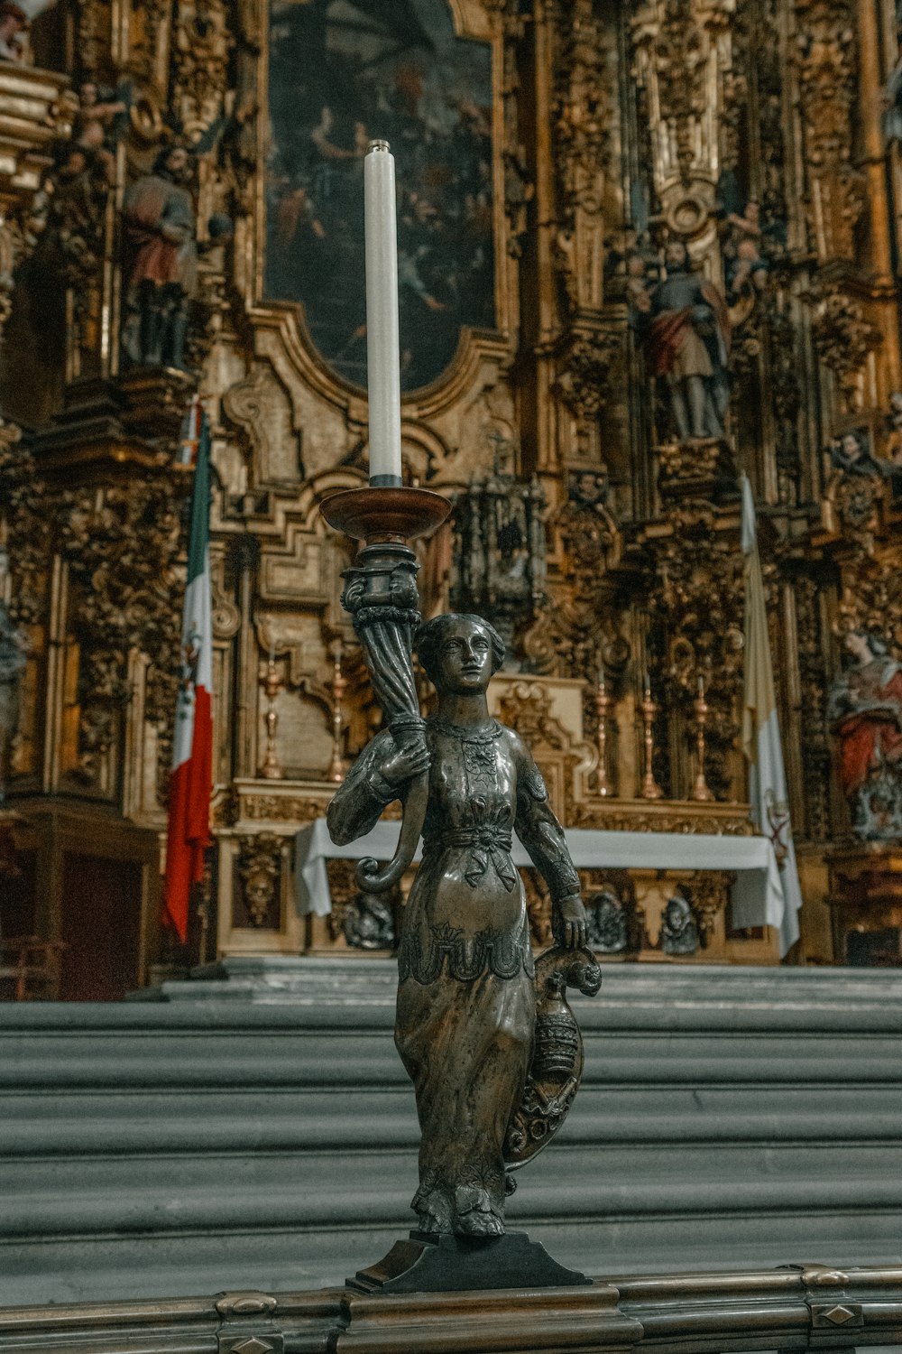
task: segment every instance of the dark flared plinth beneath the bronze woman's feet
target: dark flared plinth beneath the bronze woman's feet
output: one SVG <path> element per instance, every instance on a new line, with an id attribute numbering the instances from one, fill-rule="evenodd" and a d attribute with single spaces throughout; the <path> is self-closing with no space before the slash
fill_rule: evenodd
<path id="1" fill-rule="evenodd" d="M 411 1232 L 388 1255 L 357 1270 L 357 1293 L 462 1293 L 502 1288 L 575 1288 L 592 1281 L 552 1259 L 526 1232 L 503 1236 L 427 1236 Z"/>

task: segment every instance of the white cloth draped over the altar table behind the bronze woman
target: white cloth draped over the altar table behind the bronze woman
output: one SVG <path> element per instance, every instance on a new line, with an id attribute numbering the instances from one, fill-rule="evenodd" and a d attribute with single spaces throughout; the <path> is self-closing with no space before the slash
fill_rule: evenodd
<path id="1" fill-rule="evenodd" d="M 365 837 L 335 846 L 326 819 L 318 818 L 295 837 L 295 888 L 299 913 L 326 917 L 331 911 L 327 860 L 389 861 L 395 854 L 399 822 L 379 822 Z M 564 830 L 573 864 L 596 869 L 729 869 L 733 884 L 734 926 L 776 926 L 783 921 L 783 884 L 767 837 L 726 837 L 706 833 L 617 833 L 587 827 Z M 514 837 L 515 865 L 531 865 L 526 848 Z M 419 860 L 417 849 L 415 860 Z"/>

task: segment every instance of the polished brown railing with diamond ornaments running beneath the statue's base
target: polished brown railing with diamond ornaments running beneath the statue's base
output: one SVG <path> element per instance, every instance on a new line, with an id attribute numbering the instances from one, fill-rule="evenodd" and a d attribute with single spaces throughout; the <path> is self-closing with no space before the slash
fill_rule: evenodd
<path id="1" fill-rule="evenodd" d="M 902 1266 L 596 1280 L 588 1288 L 0 1309 L 3 1354 L 742 1354 L 902 1345 Z"/>

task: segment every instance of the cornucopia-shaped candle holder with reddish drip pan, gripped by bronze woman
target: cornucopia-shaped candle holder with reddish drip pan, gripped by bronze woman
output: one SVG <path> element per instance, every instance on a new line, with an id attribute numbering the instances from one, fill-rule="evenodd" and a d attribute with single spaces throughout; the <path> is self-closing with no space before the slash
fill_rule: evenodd
<path id="1" fill-rule="evenodd" d="M 429 489 L 403 485 L 346 489 L 319 509 L 330 527 L 365 544 L 342 574 L 342 607 L 353 617 L 369 680 L 398 747 L 422 738 L 411 649 L 419 624 L 417 556 L 407 544 L 440 527 L 450 504 Z M 357 865 L 360 888 L 381 894 L 396 884 L 414 858 L 426 818 L 429 773 L 407 792 L 395 858 L 383 871 L 372 857 Z"/>

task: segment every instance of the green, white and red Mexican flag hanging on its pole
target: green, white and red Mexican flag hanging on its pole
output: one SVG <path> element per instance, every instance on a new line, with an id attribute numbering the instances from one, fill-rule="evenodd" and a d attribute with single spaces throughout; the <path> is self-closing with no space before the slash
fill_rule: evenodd
<path id="1" fill-rule="evenodd" d="M 183 944 L 188 936 L 191 890 L 203 876 L 204 850 L 210 846 L 211 688 L 210 425 L 200 410 L 166 838 L 165 909 Z"/>

